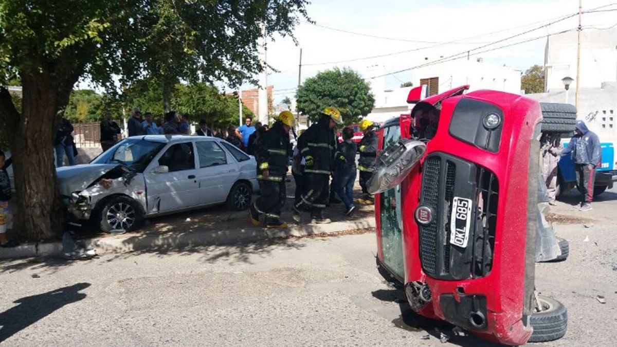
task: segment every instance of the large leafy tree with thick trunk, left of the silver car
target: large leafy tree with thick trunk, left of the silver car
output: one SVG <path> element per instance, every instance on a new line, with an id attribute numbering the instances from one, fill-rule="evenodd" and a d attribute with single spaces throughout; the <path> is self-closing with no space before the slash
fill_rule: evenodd
<path id="1" fill-rule="evenodd" d="M 0 0 L 0 85 L 18 76 L 23 87 L 21 112 L 0 87 L 0 126 L 15 157 L 17 230 L 41 240 L 62 227 L 52 141 L 80 77 L 109 91 L 163 77 L 164 95 L 176 80 L 239 85 L 263 71 L 258 41 L 291 35 L 307 18 L 307 3 Z"/>

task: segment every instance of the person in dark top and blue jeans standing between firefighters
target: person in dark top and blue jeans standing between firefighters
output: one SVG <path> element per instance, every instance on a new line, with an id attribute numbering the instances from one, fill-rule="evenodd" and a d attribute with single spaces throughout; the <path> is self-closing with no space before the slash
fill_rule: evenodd
<path id="1" fill-rule="evenodd" d="M 345 204 L 345 215 L 350 215 L 355 210 L 354 206 L 354 183 L 355 183 L 355 153 L 357 146 L 351 139 L 354 137 L 352 128 L 344 128 L 342 131 L 343 141 L 338 144 L 334 153 L 334 191 Z"/>

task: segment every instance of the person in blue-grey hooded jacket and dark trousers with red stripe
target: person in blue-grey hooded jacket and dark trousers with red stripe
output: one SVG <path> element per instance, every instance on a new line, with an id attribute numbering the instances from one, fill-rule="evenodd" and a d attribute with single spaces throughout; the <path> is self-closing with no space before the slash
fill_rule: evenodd
<path id="1" fill-rule="evenodd" d="M 574 136 L 561 156 L 571 154 L 576 169 L 578 190 L 582 194 L 580 211 L 590 211 L 594 198 L 595 169 L 602 162 L 602 148 L 598 135 L 590 131 L 582 120 L 576 122 Z"/>

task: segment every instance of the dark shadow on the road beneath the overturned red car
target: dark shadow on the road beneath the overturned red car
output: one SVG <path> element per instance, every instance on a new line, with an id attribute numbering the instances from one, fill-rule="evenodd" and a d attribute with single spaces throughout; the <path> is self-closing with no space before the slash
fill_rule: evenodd
<path id="1" fill-rule="evenodd" d="M 402 288 L 391 288 L 388 290 L 380 289 L 373 291 L 371 294 L 374 298 L 381 301 L 399 304 L 400 316 L 392 320 L 392 324 L 397 328 L 410 332 L 421 332 L 424 330 L 430 335 L 426 338 L 433 337 L 437 340 L 442 338 L 443 333 L 447 337 L 447 342 L 458 346 L 500 346 L 468 333 L 455 333 L 452 330 L 455 328 L 455 325 L 449 324 L 443 320 L 429 319 L 416 314 L 407 303 L 407 298 Z"/>

